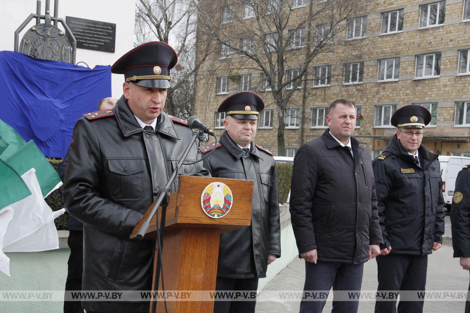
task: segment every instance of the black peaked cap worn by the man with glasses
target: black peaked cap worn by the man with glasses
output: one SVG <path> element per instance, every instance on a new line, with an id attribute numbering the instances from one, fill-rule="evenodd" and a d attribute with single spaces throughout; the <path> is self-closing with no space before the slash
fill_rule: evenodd
<path id="1" fill-rule="evenodd" d="M 417 104 L 400 107 L 393 113 L 390 123 L 395 127 L 424 128 L 431 122 L 428 109 Z"/>

